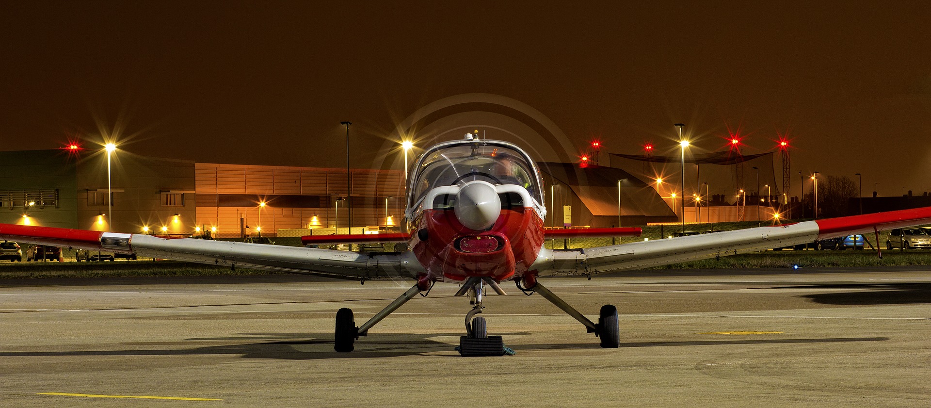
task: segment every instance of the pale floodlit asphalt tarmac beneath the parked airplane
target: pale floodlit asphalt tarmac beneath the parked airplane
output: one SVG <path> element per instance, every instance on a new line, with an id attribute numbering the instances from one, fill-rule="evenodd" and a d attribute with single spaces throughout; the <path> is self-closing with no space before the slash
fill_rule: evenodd
<path id="1" fill-rule="evenodd" d="M 923 270 L 926 269 L 926 270 Z M 463 358 L 466 298 L 438 284 L 333 351 L 408 281 L 302 276 L 0 281 L 0 405 L 931 406 L 931 268 L 651 271 L 486 298 L 514 356 Z"/>

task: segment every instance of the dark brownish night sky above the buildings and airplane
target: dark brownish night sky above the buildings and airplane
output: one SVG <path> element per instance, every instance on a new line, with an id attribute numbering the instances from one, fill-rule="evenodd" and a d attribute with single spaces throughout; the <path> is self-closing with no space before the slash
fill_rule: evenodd
<path id="1" fill-rule="evenodd" d="M 796 176 L 931 191 L 926 2 L 498 3 L 3 1 L 0 150 L 105 132 L 140 155 L 344 167 L 350 120 L 364 168 L 404 117 L 481 92 L 579 148 L 674 154 L 681 122 L 708 152 L 739 129 L 746 154 L 788 137 Z"/>

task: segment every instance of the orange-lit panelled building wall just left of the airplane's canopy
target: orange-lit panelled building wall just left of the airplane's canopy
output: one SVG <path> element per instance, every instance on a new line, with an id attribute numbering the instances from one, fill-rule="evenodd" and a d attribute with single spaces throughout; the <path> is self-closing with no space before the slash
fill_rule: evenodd
<path id="1" fill-rule="evenodd" d="M 401 170 L 352 170 L 353 226 L 397 225 L 403 214 Z M 282 228 L 347 226 L 346 170 L 283 166 L 196 163 L 197 224 L 217 227 L 220 237 L 238 237 L 239 219 L 246 233 L 274 236 Z M 260 208 L 259 203 L 266 205 Z M 337 211 L 339 218 L 337 220 Z"/>

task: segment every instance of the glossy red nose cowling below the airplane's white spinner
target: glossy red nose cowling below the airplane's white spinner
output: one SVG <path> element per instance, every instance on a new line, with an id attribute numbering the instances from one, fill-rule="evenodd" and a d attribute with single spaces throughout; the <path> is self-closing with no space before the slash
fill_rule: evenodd
<path id="1" fill-rule="evenodd" d="M 544 241 L 543 220 L 530 207 L 502 209 L 487 231 L 463 226 L 452 210 L 425 210 L 412 226 L 412 251 L 434 280 L 519 278 Z"/>

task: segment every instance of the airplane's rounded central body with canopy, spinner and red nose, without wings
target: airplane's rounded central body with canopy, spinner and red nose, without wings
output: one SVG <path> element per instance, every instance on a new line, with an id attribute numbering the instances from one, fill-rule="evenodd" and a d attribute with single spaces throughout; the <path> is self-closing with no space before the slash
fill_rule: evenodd
<path id="1" fill-rule="evenodd" d="M 517 146 L 440 143 L 420 156 L 409 181 L 409 247 L 427 279 L 517 279 L 537 259 L 543 186 L 535 163 Z"/>

